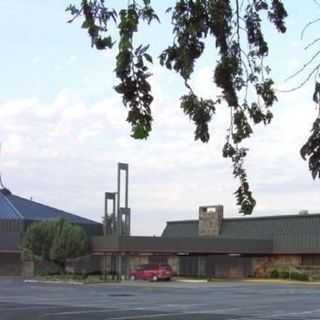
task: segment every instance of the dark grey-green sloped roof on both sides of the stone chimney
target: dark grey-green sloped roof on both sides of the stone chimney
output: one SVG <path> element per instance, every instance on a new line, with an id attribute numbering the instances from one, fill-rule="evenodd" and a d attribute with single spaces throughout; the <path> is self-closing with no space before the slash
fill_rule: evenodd
<path id="1" fill-rule="evenodd" d="M 198 237 L 198 220 L 171 221 L 162 237 Z M 223 219 L 224 239 L 272 240 L 273 252 L 320 253 L 320 214 Z"/>

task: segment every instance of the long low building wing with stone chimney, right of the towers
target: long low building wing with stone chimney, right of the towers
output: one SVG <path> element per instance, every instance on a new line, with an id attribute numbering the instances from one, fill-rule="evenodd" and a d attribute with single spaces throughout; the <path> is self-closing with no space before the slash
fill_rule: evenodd
<path id="1" fill-rule="evenodd" d="M 320 276 L 320 214 L 224 218 L 221 205 L 207 206 L 198 220 L 167 222 L 161 237 L 111 235 L 92 244 L 108 272 L 112 257 L 121 256 L 124 275 L 161 262 L 184 276 L 265 277 L 272 270 Z"/>

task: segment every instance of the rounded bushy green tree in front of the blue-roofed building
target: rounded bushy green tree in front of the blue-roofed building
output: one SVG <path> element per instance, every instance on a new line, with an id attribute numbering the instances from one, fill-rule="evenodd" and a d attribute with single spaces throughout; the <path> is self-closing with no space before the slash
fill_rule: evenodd
<path id="1" fill-rule="evenodd" d="M 27 254 L 64 267 L 66 259 L 89 252 L 89 239 L 80 226 L 60 219 L 33 223 L 24 235 L 22 247 Z"/>

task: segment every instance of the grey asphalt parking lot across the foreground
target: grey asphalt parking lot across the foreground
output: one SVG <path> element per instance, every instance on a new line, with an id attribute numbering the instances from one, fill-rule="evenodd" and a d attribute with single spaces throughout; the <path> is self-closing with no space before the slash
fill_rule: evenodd
<path id="1" fill-rule="evenodd" d="M 320 319 L 320 288 L 218 283 L 104 285 L 0 280 L 1 320 Z"/>

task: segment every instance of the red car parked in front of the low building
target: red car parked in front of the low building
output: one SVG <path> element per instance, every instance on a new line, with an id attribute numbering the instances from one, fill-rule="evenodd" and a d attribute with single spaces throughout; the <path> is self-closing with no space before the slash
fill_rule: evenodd
<path id="1" fill-rule="evenodd" d="M 168 264 L 143 264 L 130 273 L 131 280 L 171 280 L 173 271 Z"/>

